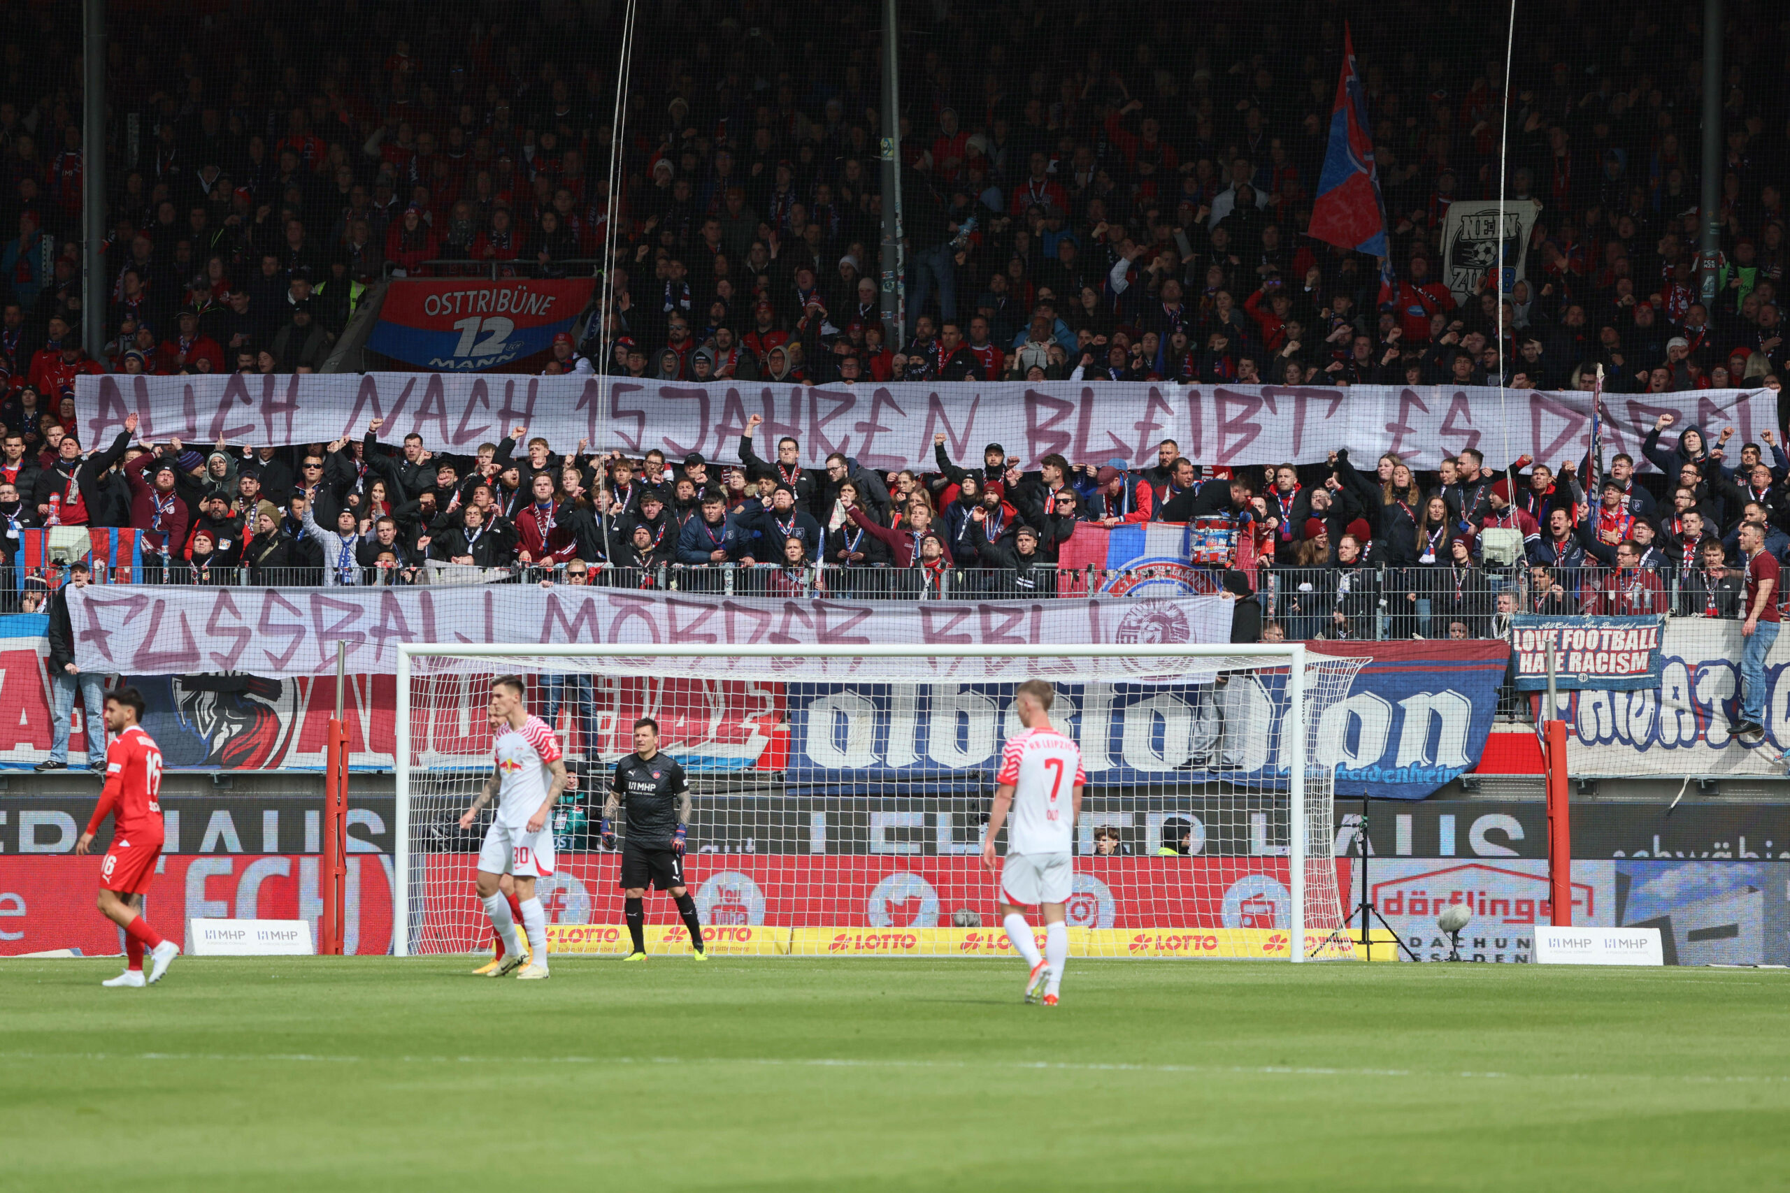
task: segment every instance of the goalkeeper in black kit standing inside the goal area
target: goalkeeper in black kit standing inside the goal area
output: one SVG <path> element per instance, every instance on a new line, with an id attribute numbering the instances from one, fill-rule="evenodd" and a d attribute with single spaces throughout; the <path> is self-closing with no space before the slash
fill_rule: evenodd
<path id="1" fill-rule="evenodd" d="M 616 814 L 628 805 L 628 839 L 621 846 L 621 896 L 634 952 L 626 960 L 646 960 L 646 884 L 668 891 L 689 928 L 696 960 L 702 952 L 702 921 L 696 900 L 684 885 L 684 837 L 689 832 L 689 780 L 669 755 L 659 753 L 659 723 L 634 723 L 634 753 L 616 764 L 616 778 L 603 801 L 603 848 L 616 848 Z"/>

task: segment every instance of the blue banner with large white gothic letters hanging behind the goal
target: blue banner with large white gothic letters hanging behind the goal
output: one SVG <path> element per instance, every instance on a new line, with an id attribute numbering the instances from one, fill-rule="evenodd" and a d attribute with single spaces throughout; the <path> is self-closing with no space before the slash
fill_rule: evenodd
<path id="1" fill-rule="evenodd" d="M 1317 726 L 1316 758 L 1334 764 L 1339 798 L 1423 800 L 1473 769 L 1491 733 L 1504 642 L 1335 644 L 1368 656 L 1346 698 Z M 1019 732 L 1011 683 L 789 683 L 789 792 L 990 794 L 1001 746 Z M 1081 744 L 1099 791 L 1210 794 L 1276 787 L 1285 673 L 1232 673 L 1223 683 L 1058 685 L 1053 721 Z"/>

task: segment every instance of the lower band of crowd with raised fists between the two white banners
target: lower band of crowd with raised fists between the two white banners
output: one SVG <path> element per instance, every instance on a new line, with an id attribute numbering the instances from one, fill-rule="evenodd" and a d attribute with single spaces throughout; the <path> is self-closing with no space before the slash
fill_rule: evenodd
<path id="1" fill-rule="evenodd" d="M 1303 485 L 1312 470 L 1291 463 L 1203 474 L 1174 440 L 1147 469 L 1049 454 L 1022 470 L 1001 444 L 956 461 L 938 435 L 936 470 L 879 474 L 838 453 L 804 467 L 795 438 L 759 442 L 759 415 L 739 465 L 555 453 L 526 427 L 440 454 L 417 435 L 383 444 L 378 419 L 360 440 L 202 453 L 134 442 L 132 415 L 86 458 L 61 426 L 38 454 L 5 431 L 0 542 L 11 565 L 29 528 L 132 528 L 145 558 L 132 580 L 147 583 L 952 597 L 1085 592 L 1060 567 L 1083 528 L 1185 522 L 1217 535 L 1217 554 L 1194 556 L 1205 583 L 1249 596 L 1264 631 L 1291 637 L 1486 637 L 1518 610 L 1735 617 L 1740 528 L 1763 528 L 1790 562 L 1790 458 L 1770 431 L 1731 454 L 1731 429 L 1668 442 L 1670 424 L 1661 415 L 1645 442 L 1670 479 L 1661 499 L 1627 454 L 1588 488 L 1590 460 L 1495 472 L 1468 449 L 1430 479 L 1396 456 L 1357 469 L 1339 449 Z"/>

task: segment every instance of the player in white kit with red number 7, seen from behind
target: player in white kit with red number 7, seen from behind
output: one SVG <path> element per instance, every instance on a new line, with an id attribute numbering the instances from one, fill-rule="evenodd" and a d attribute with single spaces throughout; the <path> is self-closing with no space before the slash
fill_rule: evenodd
<path id="1" fill-rule="evenodd" d="M 988 810 L 983 837 L 983 869 L 1001 875 L 1001 923 L 1008 939 L 1026 959 L 1026 1002 L 1056 1005 L 1069 960 L 1069 925 L 1063 905 L 1076 882 L 1070 860 L 1076 817 L 1081 816 L 1081 789 L 1088 782 L 1081 769 L 1081 748 L 1051 726 L 1056 692 L 1044 680 L 1027 680 L 1013 694 L 1013 708 L 1024 732 L 1008 739 L 995 778 L 995 801 Z M 995 833 L 1013 812 L 1008 828 L 1006 866 L 995 864 Z M 1044 955 L 1026 923 L 1027 905 L 1044 909 Z"/>

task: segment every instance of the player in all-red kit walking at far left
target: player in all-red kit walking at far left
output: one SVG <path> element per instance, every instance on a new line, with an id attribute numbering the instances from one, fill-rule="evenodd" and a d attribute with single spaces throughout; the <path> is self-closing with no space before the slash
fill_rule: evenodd
<path id="1" fill-rule="evenodd" d="M 75 842 L 75 853 L 93 848 L 107 814 L 113 814 L 113 842 L 100 866 L 100 912 L 124 928 L 125 971 L 102 986 L 149 986 L 159 982 L 181 955 L 181 946 L 165 939 L 143 918 L 143 893 L 156 878 L 161 857 L 161 748 L 143 732 L 143 696 L 134 687 L 106 692 L 106 728 L 116 737 L 106 748 L 106 789 L 93 808 L 88 830 Z M 149 950 L 149 978 L 143 978 L 143 952 Z"/>

